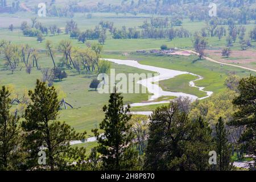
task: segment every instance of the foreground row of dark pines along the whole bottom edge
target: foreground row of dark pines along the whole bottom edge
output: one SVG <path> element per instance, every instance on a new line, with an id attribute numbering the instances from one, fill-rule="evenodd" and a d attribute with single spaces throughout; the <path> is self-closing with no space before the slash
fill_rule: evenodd
<path id="1" fill-rule="evenodd" d="M 233 100 L 236 112 L 228 125 L 241 127 L 236 141 L 255 159 L 255 85 L 256 77 L 242 78 L 238 96 Z M 59 101 L 54 87 L 47 88 L 37 81 L 34 91 L 28 92 L 31 102 L 26 107 L 24 121 L 10 113 L 10 93 L 0 90 L 0 168 L 2 170 L 231 170 L 232 143 L 229 142 L 225 119 L 218 118 L 212 130 L 203 117 L 191 117 L 191 103 L 179 98 L 169 106 L 158 107 L 147 119 L 131 118 L 130 106 L 123 106 L 117 90 L 110 94 L 105 105 L 104 131 L 93 132 L 98 146 L 89 157 L 85 148 L 72 148 L 74 139 L 85 139 L 66 123 L 56 121 Z M 203 110 L 201 110 L 203 111 Z M 138 119 L 140 120 L 138 122 Z M 134 125 L 134 122 L 137 124 Z M 148 136 L 148 137 L 147 137 Z M 17 150 L 18 148 L 18 150 Z M 217 164 L 209 164 L 209 152 L 216 151 Z M 40 158 L 46 152 L 46 163 Z M 138 152 L 142 152 L 139 155 Z M 42 162 L 42 163 L 41 163 Z M 255 169 L 255 163 L 251 164 Z"/>

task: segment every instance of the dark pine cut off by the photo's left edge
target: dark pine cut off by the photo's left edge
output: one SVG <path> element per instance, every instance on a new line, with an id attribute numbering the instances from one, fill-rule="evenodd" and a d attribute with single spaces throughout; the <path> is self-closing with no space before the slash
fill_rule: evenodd
<path id="1" fill-rule="evenodd" d="M 0 170 L 17 169 L 20 154 L 19 118 L 10 114 L 10 93 L 2 86 L 0 90 Z"/>

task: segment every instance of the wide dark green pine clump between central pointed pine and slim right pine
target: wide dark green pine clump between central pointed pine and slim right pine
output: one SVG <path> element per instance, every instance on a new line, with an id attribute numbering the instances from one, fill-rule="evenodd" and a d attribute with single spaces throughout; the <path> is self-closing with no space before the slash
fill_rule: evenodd
<path id="1" fill-rule="evenodd" d="M 209 169 L 213 147 L 207 122 L 191 121 L 176 102 L 156 109 L 151 121 L 144 169 Z"/>

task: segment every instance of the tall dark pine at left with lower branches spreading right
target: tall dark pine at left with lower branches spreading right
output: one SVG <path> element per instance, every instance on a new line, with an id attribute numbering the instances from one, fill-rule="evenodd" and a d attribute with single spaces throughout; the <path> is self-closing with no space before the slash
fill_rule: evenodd
<path id="1" fill-rule="evenodd" d="M 56 121 L 59 113 L 59 101 L 55 88 L 47 88 L 45 82 L 37 80 L 34 92 L 29 91 L 31 103 L 24 114 L 23 146 L 27 150 L 27 169 L 71 169 L 70 163 L 81 155 L 79 148 L 71 148 L 71 140 L 85 139 L 85 133 L 76 133 L 66 123 Z M 46 152 L 46 164 L 38 163 L 38 152 Z"/>

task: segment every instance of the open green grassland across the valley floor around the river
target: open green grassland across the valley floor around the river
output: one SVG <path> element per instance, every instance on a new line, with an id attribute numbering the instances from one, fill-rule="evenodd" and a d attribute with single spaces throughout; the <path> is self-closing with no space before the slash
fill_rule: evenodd
<path id="1" fill-rule="evenodd" d="M 23 1 L 22 1 L 23 2 Z M 89 0 L 88 0 L 89 2 Z M 106 1 L 105 1 L 106 2 Z M 31 4 L 32 6 L 32 4 Z M 32 48 L 40 49 L 39 64 L 41 68 L 52 67 L 52 61 L 44 53 L 44 47 L 46 40 L 51 40 L 53 46 L 56 48 L 60 40 L 70 39 L 69 35 L 60 34 L 44 37 L 43 43 L 38 43 L 36 38 L 23 36 L 22 32 L 19 32 L 20 23 L 23 20 L 27 20 L 31 24 L 30 18 L 35 17 L 33 13 L 16 13 L 16 14 L 1 14 L 0 19 L 0 39 L 6 39 L 14 44 L 29 44 Z M 91 19 L 86 18 L 86 14 L 77 13 L 73 18 L 77 23 L 81 31 L 86 28 L 94 28 L 100 20 L 109 20 L 114 22 L 114 27 L 121 28 L 122 26 L 137 27 L 140 26 L 144 20 L 149 19 L 152 15 L 138 14 L 137 16 L 131 14 L 115 14 L 115 13 L 93 13 Z M 44 26 L 50 26 L 51 24 L 57 24 L 58 27 L 65 27 L 65 23 L 69 20 L 68 18 L 56 18 L 46 17 L 38 18 L 39 22 L 42 22 Z M 8 27 L 10 24 L 14 24 L 14 32 L 10 32 Z M 187 28 L 191 32 L 199 31 L 201 28 L 206 26 L 206 22 L 190 22 L 188 19 L 183 20 L 183 27 Z M 247 32 L 254 27 L 254 24 L 247 24 Z M 138 28 L 139 29 L 139 28 Z M 224 47 L 226 42 L 225 38 L 221 41 L 218 38 L 207 38 L 209 41 L 209 49 L 219 49 Z M 75 39 L 70 39 L 75 47 L 86 47 L 85 44 L 77 42 Z M 97 42 L 97 40 L 89 40 L 90 42 Z M 191 56 L 158 56 L 154 54 L 139 54 L 135 53 L 139 49 L 156 49 L 162 44 L 166 44 L 168 47 L 178 47 L 192 49 L 191 38 L 181 38 L 169 40 L 161 39 L 112 39 L 108 35 L 108 39 L 104 45 L 104 54 L 102 57 L 106 58 L 117 58 L 117 59 L 134 59 L 138 60 L 141 64 L 154 65 L 156 67 L 176 69 L 179 71 L 186 71 L 201 75 L 204 80 L 196 82 L 197 86 L 204 86 L 205 90 L 213 91 L 214 93 L 220 93 L 225 90 L 224 81 L 229 73 L 235 72 L 237 75 L 243 77 L 254 72 L 245 71 L 240 68 L 233 68 L 224 66 L 220 67 L 219 64 L 212 63 L 207 60 L 197 60 L 195 55 Z M 256 46 L 255 42 L 252 42 Z M 238 43 L 235 43 L 232 47 L 233 50 L 240 49 Z M 255 49 L 251 49 L 255 51 Z M 128 56 L 122 56 L 124 52 L 128 52 Z M 61 56 L 57 53 L 56 57 Z M 196 61 L 197 60 L 197 61 Z M 32 89 L 35 86 L 37 78 L 42 78 L 42 73 L 32 69 L 32 73 L 28 75 L 23 68 L 21 71 L 15 71 L 12 75 L 10 71 L 6 70 L 3 65 L 5 60 L 0 57 L 0 84 L 15 86 L 15 92 L 22 94 L 24 89 Z M 252 63 L 253 64 L 253 63 Z M 123 65 L 112 64 L 112 68 L 116 69 L 117 73 L 145 73 L 146 71 L 126 67 Z M 67 95 L 65 100 L 74 106 L 74 109 L 61 110 L 59 115 L 60 121 L 65 121 L 77 131 L 88 131 L 88 135 L 92 135 L 91 129 L 96 127 L 98 123 L 104 118 L 102 112 L 102 106 L 107 104 L 109 94 L 99 94 L 98 92 L 91 91 L 89 89 L 90 81 L 96 78 L 95 73 L 86 73 L 79 75 L 75 71 L 67 71 L 68 78 L 65 78 L 61 82 L 55 82 L 56 86 L 62 88 Z M 146 72 L 147 73 L 147 72 Z M 188 86 L 188 82 L 194 80 L 194 77 L 183 75 L 170 80 L 160 82 L 160 85 L 164 89 L 173 92 L 185 92 L 195 94 L 196 96 L 205 96 L 204 92 L 200 92 L 196 88 Z M 125 104 L 133 102 L 142 102 L 148 100 L 148 94 L 124 94 Z M 159 98 L 159 101 L 164 98 Z M 170 98 L 171 99 L 171 98 Z M 134 108 L 134 110 L 152 110 L 156 106 Z"/>

